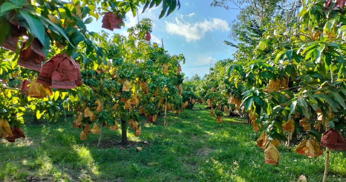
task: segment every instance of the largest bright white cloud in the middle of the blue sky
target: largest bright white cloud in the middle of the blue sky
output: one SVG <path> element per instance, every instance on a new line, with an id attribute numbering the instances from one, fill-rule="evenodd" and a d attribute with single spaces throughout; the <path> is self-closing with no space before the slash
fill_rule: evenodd
<path id="1" fill-rule="evenodd" d="M 227 21 L 220 18 L 209 18 L 190 23 L 184 20 L 183 16 L 178 15 L 172 22 L 165 21 L 165 23 L 168 33 L 184 36 L 187 42 L 200 40 L 207 32 L 230 30 Z"/>

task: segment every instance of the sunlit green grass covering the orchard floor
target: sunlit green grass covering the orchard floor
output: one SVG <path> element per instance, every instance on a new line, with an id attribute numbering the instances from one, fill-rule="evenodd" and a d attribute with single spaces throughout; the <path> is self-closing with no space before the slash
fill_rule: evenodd
<path id="1" fill-rule="evenodd" d="M 199 109 L 201 108 L 201 109 Z M 81 129 L 61 117 L 55 123 L 27 124 L 27 139 L 0 140 L 0 181 L 322 181 L 325 155 L 308 158 L 280 144 L 280 164 L 264 163 L 251 125 L 236 118 L 217 124 L 204 106 L 185 111 L 188 119 L 169 113 L 162 140 L 163 117 L 142 122 L 142 135 L 129 129 L 129 146 L 119 146 L 120 130 L 104 128 L 79 139 Z M 183 114 L 181 114 L 182 116 Z M 28 119 L 31 120 L 31 119 Z M 143 119 L 144 121 L 144 119 Z M 148 144 L 145 144 L 147 141 Z M 143 148 L 137 153 L 136 146 Z M 328 181 L 346 181 L 346 153 L 331 151 Z"/>

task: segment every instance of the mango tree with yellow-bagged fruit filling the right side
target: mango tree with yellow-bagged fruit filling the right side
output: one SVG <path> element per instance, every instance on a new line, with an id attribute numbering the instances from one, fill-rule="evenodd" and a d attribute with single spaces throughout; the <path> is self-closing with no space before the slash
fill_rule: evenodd
<path id="1" fill-rule="evenodd" d="M 252 87 L 243 93 L 242 104 L 251 111 L 254 126 L 266 127 L 263 145 L 268 148 L 273 149 L 277 139 L 287 140 L 285 132 L 306 131 L 305 143 L 316 143 L 321 132 L 345 125 L 346 21 L 339 8 L 325 8 L 325 3 L 303 2 L 299 22 L 293 25 L 296 31 L 285 32 L 282 19 L 277 18 L 275 29 L 265 32 L 256 47 L 254 60 L 245 66 L 230 66 L 230 79 L 245 81 Z M 309 149 L 304 141 L 301 145 Z M 322 137 L 321 144 L 325 145 L 323 141 Z M 313 149 L 321 151 L 318 142 Z M 324 181 L 328 147 L 326 151 Z M 267 148 L 265 153 L 268 159 Z"/>

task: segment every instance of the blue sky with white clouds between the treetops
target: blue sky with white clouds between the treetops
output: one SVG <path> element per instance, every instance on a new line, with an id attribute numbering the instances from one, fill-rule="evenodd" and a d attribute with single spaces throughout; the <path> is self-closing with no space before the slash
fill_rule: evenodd
<path id="1" fill-rule="evenodd" d="M 214 63 L 218 60 L 232 57 L 233 47 L 223 43 L 228 40 L 230 26 L 238 10 L 225 10 L 220 7 L 210 7 L 212 0 L 180 0 L 181 8 L 168 17 L 158 19 L 161 7 L 146 10 L 139 14 L 139 19 L 153 20 L 152 42 L 160 42 L 163 38 L 164 47 L 173 54 L 184 54 L 186 63 L 182 70 L 186 76 L 197 73 L 203 77 L 209 73 L 210 60 L 214 52 Z M 140 10 L 141 12 L 141 10 Z M 115 29 L 113 33 L 127 35 L 126 29 L 134 26 L 138 19 L 131 13 L 127 14 L 125 28 Z M 89 31 L 101 31 L 101 19 L 88 25 Z M 112 33 L 103 29 L 108 33 Z"/>

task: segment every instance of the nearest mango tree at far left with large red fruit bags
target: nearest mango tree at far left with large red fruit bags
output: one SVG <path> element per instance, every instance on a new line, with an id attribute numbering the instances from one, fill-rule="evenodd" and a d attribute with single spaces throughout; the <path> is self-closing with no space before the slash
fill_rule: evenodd
<path id="1" fill-rule="evenodd" d="M 73 106 L 75 111 L 82 112 L 85 106 L 92 107 L 95 104 L 92 103 L 95 97 L 92 98 L 91 95 L 96 90 L 99 91 L 96 110 L 101 106 L 96 120 L 107 123 L 106 115 L 114 113 L 107 110 L 108 106 L 104 108 L 104 102 L 107 101 L 103 99 L 113 98 L 113 95 L 108 95 L 105 91 L 112 90 L 113 86 L 119 84 L 115 85 L 109 81 L 110 77 L 106 73 L 108 71 L 103 69 L 112 67 L 107 64 L 108 57 L 113 56 L 109 52 L 115 51 L 116 47 L 101 45 L 102 35 L 89 32 L 86 24 L 103 16 L 103 28 L 120 29 L 124 26 L 126 12 L 131 11 L 136 16 L 140 5 L 144 6 L 144 12 L 161 4 L 160 18 L 171 14 L 176 7 L 180 8 L 179 0 L 0 1 L 0 74 L 4 83 L 1 85 L 0 94 L 0 97 L 4 98 L 0 104 L 1 136 L 11 137 L 18 133 L 17 128 L 24 123 L 22 115 L 25 107 L 29 105 L 36 111 L 38 118 L 42 115 L 48 119 L 57 118 L 61 107 L 55 101 L 59 97 L 66 100 L 66 107 Z M 146 29 L 142 33 L 149 37 L 150 31 Z M 143 39 L 143 36 L 139 37 Z M 131 41 L 135 43 L 134 39 Z M 125 62 L 121 61 L 122 56 L 115 55 L 111 63 L 120 66 Z M 46 62 L 47 59 L 49 61 Z M 80 69 L 84 70 L 83 75 Z M 98 69 L 101 72 L 95 73 Z M 125 75 L 122 72 L 116 74 Z M 107 80 L 103 83 L 103 79 Z M 19 82 L 21 84 L 18 86 Z M 98 87 L 92 88 L 91 85 Z M 105 89 L 102 91 L 103 88 Z M 116 89 L 112 91 L 115 92 Z M 85 100 L 90 101 L 89 105 L 82 102 Z M 80 105 L 72 104 L 75 102 L 79 102 Z M 80 117 L 80 114 L 78 115 Z M 16 132 L 11 133 L 11 128 Z"/>

